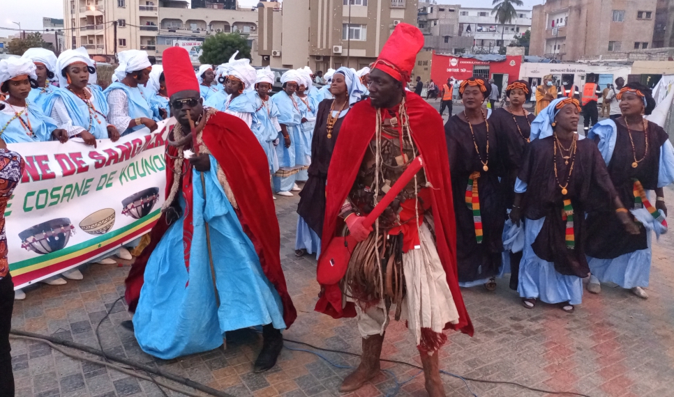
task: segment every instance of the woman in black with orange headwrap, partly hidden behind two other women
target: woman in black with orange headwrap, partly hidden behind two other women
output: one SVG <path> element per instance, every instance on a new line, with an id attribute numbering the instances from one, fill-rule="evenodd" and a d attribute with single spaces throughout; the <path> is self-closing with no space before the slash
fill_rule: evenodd
<path id="1" fill-rule="evenodd" d="M 514 81 L 506 88 L 506 96 L 510 100 L 507 107 L 495 109 L 489 118 L 494 126 L 500 159 L 503 164 L 504 175 L 501 178 L 501 187 L 505 200 L 505 208 L 511 210 L 515 197 L 515 180 L 520 170 L 522 155 L 529 144 L 531 122 L 535 116 L 523 107 L 531 95 L 531 87 L 524 80 Z M 520 269 L 522 251 L 504 252 L 503 261 L 510 263 L 510 289 L 517 290 L 517 278 Z"/>

